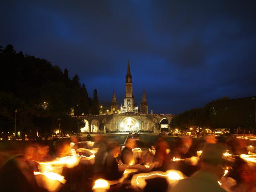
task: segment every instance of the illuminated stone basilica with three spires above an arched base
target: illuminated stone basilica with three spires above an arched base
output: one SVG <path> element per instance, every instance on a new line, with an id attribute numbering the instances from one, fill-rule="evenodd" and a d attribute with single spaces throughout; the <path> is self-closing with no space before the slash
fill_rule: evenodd
<path id="1" fill-rule="evenodd" d="M 84 122 L 80 132 L 105 133 L 105 132 L 161 132 L 169 130 L 172 114 L 148 114 L 148 102 L 143 90 L 140 109 L 134 103 L 132 92 L 132 74 L 130 63 L 125 78 L 124 103 L 118 106 L 113 90 L 110 114 L 75 116 L 79 122 Z M 80 124 L 80 123 L 79 123 Z M 78 124 L 78 125 L 79 125 Z"/>

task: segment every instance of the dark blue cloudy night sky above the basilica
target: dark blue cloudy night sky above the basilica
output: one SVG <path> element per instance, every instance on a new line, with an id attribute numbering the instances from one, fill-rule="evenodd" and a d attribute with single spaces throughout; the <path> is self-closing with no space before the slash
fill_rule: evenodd
<path id="1" fill-rule="evenodd" d="M 256 95 L 256 1 L 6 0 L 0 45 L 80 76 L 92 96 L 177 114 L 213 99 Z"/>

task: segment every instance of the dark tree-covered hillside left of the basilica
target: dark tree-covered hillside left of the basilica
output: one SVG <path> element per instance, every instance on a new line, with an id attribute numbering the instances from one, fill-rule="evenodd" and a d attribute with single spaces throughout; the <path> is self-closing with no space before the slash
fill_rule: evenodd
<path id="1" fill-rule="evenodd" d="M 77 132 L 77 122 L 70 114 L 99 114 L 97 90 L 88 96 L 85 84 L 76 74 L 72 79 L 51 62 L 16 53 L 12 45 L 0 46 L 0 131 L 14 132 L 16 127 L 24 136 L 38 130 L 51 135 L 58 128 Z"/>

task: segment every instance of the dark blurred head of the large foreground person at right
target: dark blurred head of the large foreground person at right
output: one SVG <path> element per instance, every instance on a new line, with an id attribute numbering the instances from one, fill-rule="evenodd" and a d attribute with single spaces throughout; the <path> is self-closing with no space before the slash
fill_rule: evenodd
<path id="1" fill-rule="evenodd" d="M 222 158 L 224 151 L 224 146 L 220 144 L 206 144 L 200 156 L 201 170 L 212 172 L 221 178 L 229 164 Z"/>

